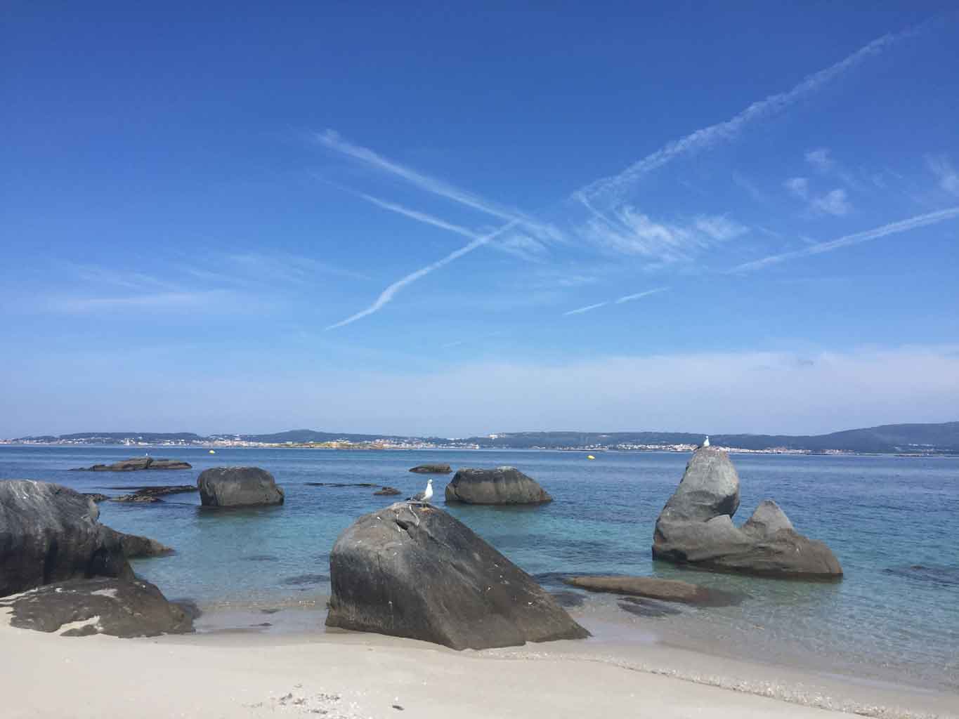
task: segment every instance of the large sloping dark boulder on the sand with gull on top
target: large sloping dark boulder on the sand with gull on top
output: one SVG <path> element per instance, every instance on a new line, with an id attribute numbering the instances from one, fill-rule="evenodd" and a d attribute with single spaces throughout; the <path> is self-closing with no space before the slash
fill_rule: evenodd
<path id="1" fill-rule="evenodd" d="M 462 522 L 397 502 L 364 515 L 330 554 L 327 626 L 454 649 L 585 638 L 550 593 Z"/>

